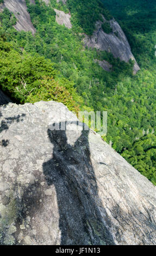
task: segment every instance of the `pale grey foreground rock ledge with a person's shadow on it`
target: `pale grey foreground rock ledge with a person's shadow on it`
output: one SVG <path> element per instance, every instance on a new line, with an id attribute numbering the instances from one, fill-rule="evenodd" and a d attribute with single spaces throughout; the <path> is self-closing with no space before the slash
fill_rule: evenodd
<path id="1" fill-rule="evenodd" d="M 156 243 L 155 186 L 62 103 L 0 112 L 1 244 Z"/>

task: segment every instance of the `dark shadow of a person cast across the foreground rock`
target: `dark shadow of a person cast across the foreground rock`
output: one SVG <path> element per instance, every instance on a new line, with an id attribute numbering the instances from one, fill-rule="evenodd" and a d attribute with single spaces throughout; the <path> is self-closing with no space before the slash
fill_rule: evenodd
<path id="1" fill-rule="evenodd" d="M 80 125 L 77 121 L 72 123 Z M 61 245 L 114 245 L 98 208 L 107 216 L 98 197 L 89 131 L 83 129 L 72 145 L 65 130 L 48 129 L 47 133 L 54 148 L 52 159 L 43 163 L 43 173 L 47 184 L 54 184 L 57 192 Z"/>

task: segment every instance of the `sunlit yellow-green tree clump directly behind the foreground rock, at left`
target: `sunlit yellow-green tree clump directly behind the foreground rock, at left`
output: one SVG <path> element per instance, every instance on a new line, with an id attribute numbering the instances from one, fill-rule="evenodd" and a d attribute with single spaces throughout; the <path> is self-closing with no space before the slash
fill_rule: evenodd
<path id="1" fill-rule="evenodd" d="M 25 51 L 15 51 L 2 35 L 0 58 L 0 84 L 12 99 L 20 103 L 55 100 L 78 112 L 79 105 L 75 100 L 80 100 L 80 97 L 76 89 L 71 82 L 56 78 L 58 71 L 54 70 L 50 60 L 37 53 L 32 56 Z"/>

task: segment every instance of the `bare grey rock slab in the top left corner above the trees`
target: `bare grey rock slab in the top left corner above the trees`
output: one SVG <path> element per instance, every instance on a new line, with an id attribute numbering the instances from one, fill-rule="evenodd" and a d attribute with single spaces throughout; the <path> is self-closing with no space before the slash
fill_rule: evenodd
<path id="1" fill-rule="evenodd" d="M 9 11 L 14 13 L 17 23 L 14 28 L 17 31 L 31 31 L 33 34 L 36 32 L 27 11 L 25 0 L 4 0 L 4 4 L 0 5 L 0 11 L 8 8 Z"/>

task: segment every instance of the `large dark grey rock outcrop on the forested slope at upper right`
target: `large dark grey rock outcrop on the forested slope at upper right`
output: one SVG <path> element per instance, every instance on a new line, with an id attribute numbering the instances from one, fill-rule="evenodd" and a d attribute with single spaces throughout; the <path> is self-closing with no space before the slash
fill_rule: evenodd
<path id="1" fill-rule="evenodd" d="M 105 22 L 105 19 L 103 17 Z M 124 62 L 129 59 L 134 60 L 134 74 L 140 70 L 131 50 L 126 35 L 123 33 L 120 25 L 113 19 L 109 21 L 110 27 L 113 32 L 107 34 L 102 29 L 102 22 L 96 22 L 96 30 L 92 36 L 85 35 L 84 44 L 91 48 L 97 48 L 102 51 L 111 52 L 115 58 L 120 58 Z"/>

